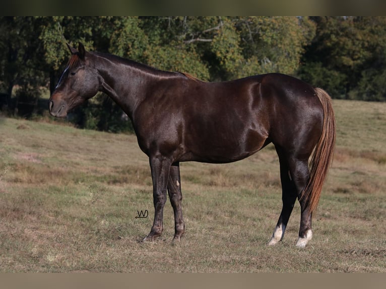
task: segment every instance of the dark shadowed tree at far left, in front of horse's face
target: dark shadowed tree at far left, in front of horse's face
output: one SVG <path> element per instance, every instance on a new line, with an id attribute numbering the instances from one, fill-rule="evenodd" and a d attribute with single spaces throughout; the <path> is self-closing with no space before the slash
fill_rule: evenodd
<path id="1" fill-rule="evenodd" d="M 40 87 L 46 86 L 46 74 L 42 68 L 42 46 L 36 37 L 40 30 L 40 23 L 34 17 L 1 17 L 0 48 L 0 86 L 8 96 L 9 109 L 18 109 L 22 105 L 34 105 L 26 108 L 34 110 L 37 106 L 38 91 Z M 35 31 L 35 33 L 31 33 Z M 11 96 L 15 86 L 16 104 L 12 106 Z M 31 109 L 32 108 L 32 109 Z"/>

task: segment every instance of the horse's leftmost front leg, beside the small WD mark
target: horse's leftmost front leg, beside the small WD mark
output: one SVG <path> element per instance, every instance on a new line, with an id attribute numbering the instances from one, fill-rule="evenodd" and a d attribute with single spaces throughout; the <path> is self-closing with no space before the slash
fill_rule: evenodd
<path id="1" fill-rule="evenodd" d="M 166 190 L 171 162 L 162 156 L 150 157 L 153 180 L 154 221 L 149 235 L 143 241 L 152 241 L 160 237 L 163 231 L 163 207 L 166 202 Z"/>

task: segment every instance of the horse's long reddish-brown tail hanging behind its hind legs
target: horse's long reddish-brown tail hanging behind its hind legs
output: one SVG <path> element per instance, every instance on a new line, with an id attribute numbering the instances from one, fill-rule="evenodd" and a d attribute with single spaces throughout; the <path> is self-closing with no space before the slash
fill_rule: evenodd
<path id="1" fill-rule="evenodd" d="M 317 207 L 321 187 L 330 170 L 334 157 L 336 139 L 335 115 L 331 97 L 326 91 L 320 88 L 315 88 L 315 92 L 323 105 L 324 119 L 320 138 L 316 143 L 311 161 L 309 162 L 310 177 L 302 195 L 302 198 L 306 197 L 308 200 L 308 206 L 311 212 Z"/>

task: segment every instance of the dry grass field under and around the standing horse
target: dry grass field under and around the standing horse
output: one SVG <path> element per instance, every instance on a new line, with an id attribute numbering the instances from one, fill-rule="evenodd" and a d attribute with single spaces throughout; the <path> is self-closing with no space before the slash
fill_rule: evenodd
<path id="1" fill-rule="evenodd" d="M 283 242 L 267 246 L 281 210 L 272 146 L 182 163 L 186 234 L 171 242 L 167 203 L 163 236 L 142 243 L 154 208 L 134 135 L 0 118 L 0 272 L 386 272 L 386 103 L 334 108 L 335 161 L 304 249 L 298 202 Z"/>

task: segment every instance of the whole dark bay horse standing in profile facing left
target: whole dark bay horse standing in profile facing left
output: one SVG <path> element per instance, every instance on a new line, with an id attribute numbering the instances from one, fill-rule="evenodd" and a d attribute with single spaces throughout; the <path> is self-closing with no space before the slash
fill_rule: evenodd
<path id="1" fill-rule="evenodd" d="M 174 211 L 173 240 L 185 232 L 180 162 L 235 162 L 270 142 L 280 161 L 283 208 L 269 244 L 282 240 L 296 199 L 301 207 L 296 246 L 304 247 L 312 238 L 312 213 L 336 135 L 331 98 L 324 90 L 282 74 L 208 83 L 88 52 L 82 43 L 69 48 L 72 56 L 49 99 L 49 112 L 65 117 L 100 91 L 130 117 L 153 180 L 154 223 L 144 240 L 163 231 L 167 192 Z"/>

